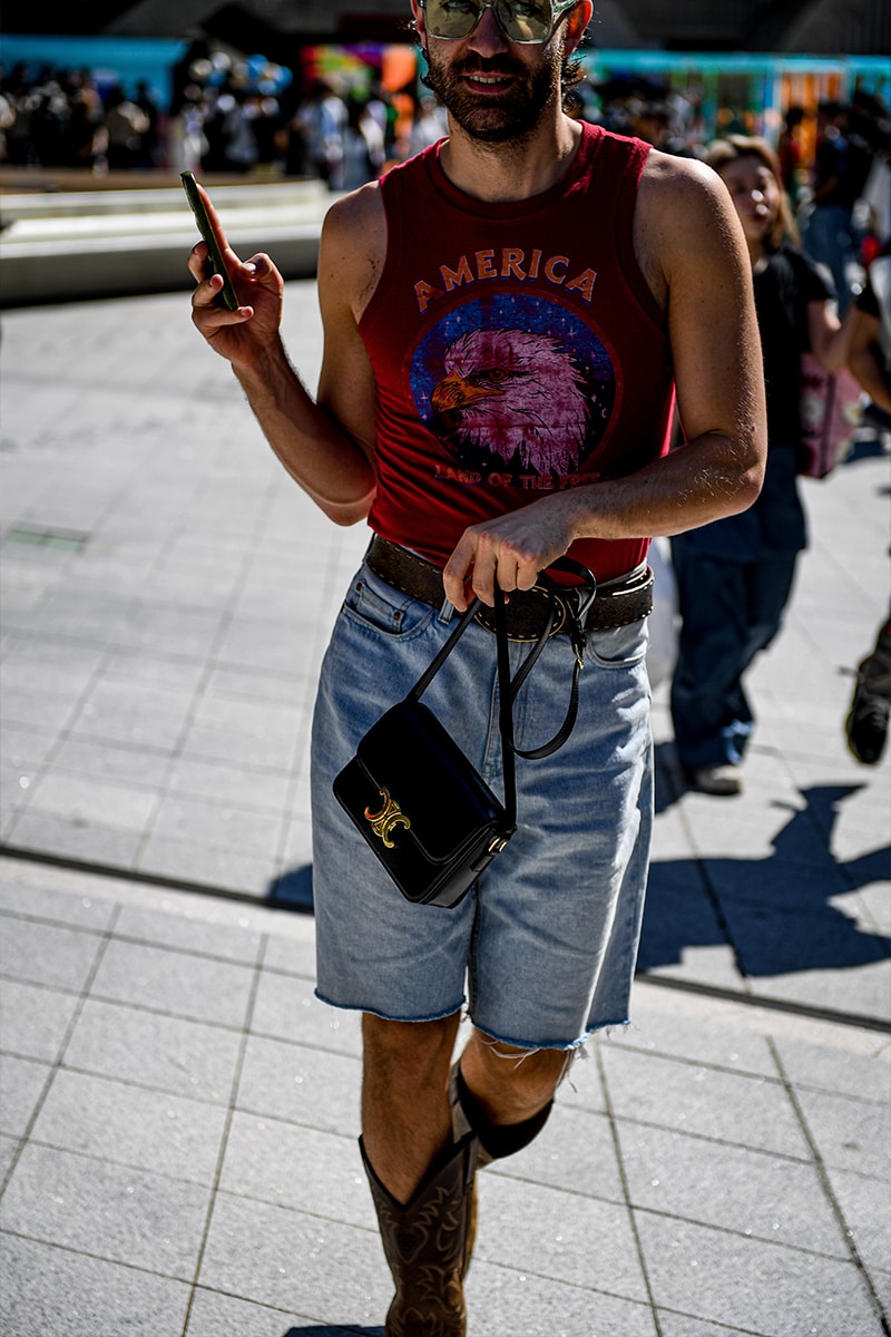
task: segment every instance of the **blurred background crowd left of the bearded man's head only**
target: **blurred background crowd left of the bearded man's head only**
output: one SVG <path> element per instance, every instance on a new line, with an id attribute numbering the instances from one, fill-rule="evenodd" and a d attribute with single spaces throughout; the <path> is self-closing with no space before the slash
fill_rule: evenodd
<path id="1" fill-rule="evenodd" d="M 168 107 L 144 82 L 98 83 L 90 70 L 12 67 L 0 79 L 0 163 L 120 170 L 184 167 L 254 176 L 319 176 L 350 190 L 438 139 L 433 99 L 378 86 L 341 95 L 311 80 L 299 95 L 263 79 L 175 80 Z"/>

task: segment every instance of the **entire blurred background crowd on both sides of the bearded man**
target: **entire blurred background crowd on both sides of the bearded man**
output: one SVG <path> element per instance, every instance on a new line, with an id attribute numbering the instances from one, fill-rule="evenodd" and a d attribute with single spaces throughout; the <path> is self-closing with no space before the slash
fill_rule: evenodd
<path id="1" fill-rule="evenodd" d="M 301 86 L 281 67 L 251 70 L 194 51 L 172 74 L 172 95 L 159 106 L 146 82 L 124 88 L 90 70 L 25 64 L 3 71 L 0 162 L 92 172 L 198 167 L 315 175 L 349 190 L 445 128 L 417 80 L 398 94 L 373 78 L 362 86 L 310 78 Z M 635 79 L 582 83 L 576 114 L 693 156 L 704 156 L 716 135 L 763 132 L 763 118 L 749 108 L 719 107 L 709 119 L 696 90 Z M 788 108 L 775 147 L 793 207 L 816 211 L 815 234 L 834 231 L 839 214 L 830 210 L 848 214 L 866 198 L 882 214 L 876 234 L 887 235 L 888 191 L 878 182 L 867 189 L 874 164 L 887 164 L 891 147 L 891 118 L 875 96 L 858 91 L 847 103 L 824 102 L 816 116 L 812 108 Z M 862 233 L 868 222 L 855 215 Z"/>

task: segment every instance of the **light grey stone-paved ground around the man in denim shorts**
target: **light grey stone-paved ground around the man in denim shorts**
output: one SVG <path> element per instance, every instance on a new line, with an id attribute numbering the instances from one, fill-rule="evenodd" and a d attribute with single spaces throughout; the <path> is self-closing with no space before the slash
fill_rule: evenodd
<path id="1" fill-rule="evenodd" d="M 313 384 L 311 283 L 286 320 Z M 182 294 L 4 325 L 0 1326 L 379 1337 L 357 1021 L 299 913 L 365 533 L 285 476 Z M 635 1024 L 481 1177 L 470 1337 L 891 1332 L 891 767 L 842 731 L 887 492 L 868 448 L 806 488 L 743 798 L 683 790 L 656 686 Z"/>

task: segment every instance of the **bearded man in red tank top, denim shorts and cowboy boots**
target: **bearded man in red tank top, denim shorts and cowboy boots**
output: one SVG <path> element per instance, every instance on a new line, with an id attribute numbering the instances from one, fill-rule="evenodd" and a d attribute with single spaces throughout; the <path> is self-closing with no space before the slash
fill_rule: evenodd
<path id="1" fill-rule="evenodd" d="M 285 468 L 333 521 L 373 531 L 317 698 L 317 992 L 363 1013 L 387 1337 L 460 1337 L 476 1170 L 526 1146 L 573 1052 L 629 1019 L 653 809 L 649 539 L 748 507 L 765 427 L 720 180 L 562 110 L 590 0 L 410 3 L 449 135 L 330 209 L 315 398 L 281 342 L 269 257 L 224 249 L 236 312 L 216 306 L 203 243 L 190 266 L 195 325 Z M 669 453 L 675 397 L 684 444 Z M 520 766 L 518 830 L 460 905 L 409 904 L 331 782 L 456 610 L 492 604 L 497 579 L 510 614 L 566 554 L 598 590 L 572 737 Z M 553 635 L 520 746 L 562 718 L 568 658 Z M 494 677 L 493 638 L 472 623 L 429 699 L 497 789 Z"/>

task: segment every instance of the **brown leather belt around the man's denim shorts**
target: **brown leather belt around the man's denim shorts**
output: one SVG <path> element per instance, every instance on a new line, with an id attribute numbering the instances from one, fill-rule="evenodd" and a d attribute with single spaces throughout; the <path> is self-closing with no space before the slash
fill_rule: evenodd
<path id="1" fill-rule="evenodd" d="M 375 535 L 365 560 L 375 576 L 411 599 L 419 599 L 431 608 L 441 608 L 446 602 L 442 571 L 414 552 Z M 560 599 L 572 598 L 574 595 L 570 586 L 560 591 Z M 512 590 L 506 607 L 509 638 L 537 640 L 546 624 L 548 608 L 548 592 L 538 586 L 534 590 Z M 640 622 L 652 612 L 652 608 L 653 572 L 649 567 L 643 567 L 625 580 L 597 586 L 597 595 L 585 618 L 585 631 L 614 631 L 617 627 L 627 627 L 632 622 Z M 482 608 L 477 614 L 477 620 L 493 631 L 494 620 L 490 620 L 490 612 L 492 610 Z M 565 612 L 561 615 L 558 608 L 552 635 L 568 630 Z"/>

